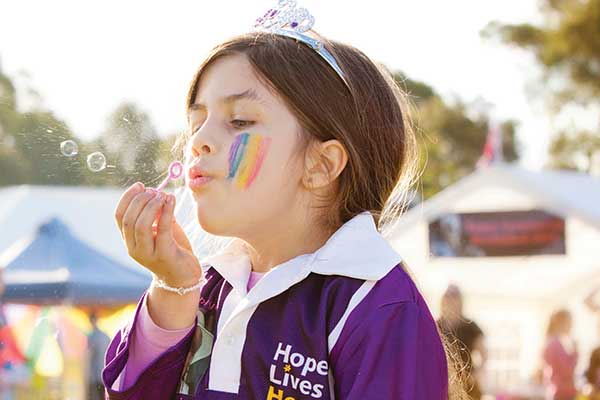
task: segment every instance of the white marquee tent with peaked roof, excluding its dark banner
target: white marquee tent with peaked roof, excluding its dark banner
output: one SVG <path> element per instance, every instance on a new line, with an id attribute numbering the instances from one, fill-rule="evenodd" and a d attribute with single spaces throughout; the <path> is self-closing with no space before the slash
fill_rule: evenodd
<path id="1" fill-rule="evenodd" d="M 453 213 L 543 210 L 564 218 L 563 255 L 433 257 L 429 223 Z M 522 386 L 539 366 L 549 314 L 574 314 L 580 371 L 598 345 L 583 299 L 600 286 L 600 179 L 566 171 L 530 172 L 499 164 L 478 170 L 408 211 L 388 238 L 434 313 L 449 283 L 465 295 L 465 314 L 487 334 L 488 385 Z"/>

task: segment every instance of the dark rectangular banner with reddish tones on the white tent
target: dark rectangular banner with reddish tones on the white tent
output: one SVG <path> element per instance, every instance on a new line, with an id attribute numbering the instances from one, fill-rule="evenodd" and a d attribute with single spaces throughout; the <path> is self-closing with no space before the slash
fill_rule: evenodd
<path id="1" fill-rule="evenodd" d="M 433 257 L 565 254 L 564 219 L 539 210 L 445 214 L 429 224 Z"/>

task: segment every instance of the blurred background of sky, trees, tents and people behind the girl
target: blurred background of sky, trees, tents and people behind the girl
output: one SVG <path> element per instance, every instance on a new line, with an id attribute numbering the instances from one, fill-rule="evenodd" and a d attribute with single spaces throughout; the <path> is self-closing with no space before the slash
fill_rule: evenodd
<path id="1" fill-rule="evenodd" d="M 114 207 L 164 179 L 209 49 L 272 5 L 2 3 L 0 399 L 96 398 L 150 282 Z M 600 0 L 301 5 L 410 96 L 423 173 L 388 237 L 473 398 L 600 398 Z"/>

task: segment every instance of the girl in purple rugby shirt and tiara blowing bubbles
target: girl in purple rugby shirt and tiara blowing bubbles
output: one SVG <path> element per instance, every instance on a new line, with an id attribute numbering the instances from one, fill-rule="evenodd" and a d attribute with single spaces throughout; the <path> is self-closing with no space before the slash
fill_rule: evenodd
<path id="1" fill-rule="evenodd" d="M 415 167 L 398 89 L 285 3 L 189 89 L 187 194 L 229 244 L 199 261 L 175 197 L 139 183 L 117 206 L 154 282 L 107 351 L 109 399 L 448 398 L 435 322 L 379 233 Z"/>

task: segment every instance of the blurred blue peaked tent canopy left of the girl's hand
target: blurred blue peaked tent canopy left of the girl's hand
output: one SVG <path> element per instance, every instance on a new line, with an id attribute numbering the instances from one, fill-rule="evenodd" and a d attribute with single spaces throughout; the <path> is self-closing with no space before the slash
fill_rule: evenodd
<path id="1" fill-rule="evenodd" d="M 151 281 L 142 268 L 122 265 L 76 238 L 58 218 L 7 252 L 7 303 L 115 306 L 136 302 Z"/>

